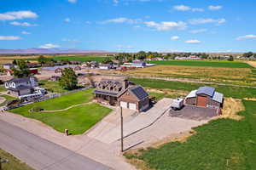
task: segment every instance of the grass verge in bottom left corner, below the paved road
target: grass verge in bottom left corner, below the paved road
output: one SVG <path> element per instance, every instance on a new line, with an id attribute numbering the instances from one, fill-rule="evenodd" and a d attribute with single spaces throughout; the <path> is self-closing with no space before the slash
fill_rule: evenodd
<path id="1" fill-rule="evenodd" d="M 8 152 L 0 149 L 0 157 L 9 160 L 9 163 L 3 163 L 3 170 L 32 170 L 26 163 L 18 160 L 15 156 L 10 155 Z"/>

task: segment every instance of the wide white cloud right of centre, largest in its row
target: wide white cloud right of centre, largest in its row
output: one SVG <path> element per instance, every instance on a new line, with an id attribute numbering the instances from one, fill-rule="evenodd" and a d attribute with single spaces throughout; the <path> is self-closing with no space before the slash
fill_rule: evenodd
<path id="1" fill-rule="evenodd" d="M 144 24 L 148 27 L 156 29 L 157 31 L 184 30 L 187 27 L 187 24 L 182 21 L 162 21 L 160 23 L 148 21 L 144 22 Z"/>

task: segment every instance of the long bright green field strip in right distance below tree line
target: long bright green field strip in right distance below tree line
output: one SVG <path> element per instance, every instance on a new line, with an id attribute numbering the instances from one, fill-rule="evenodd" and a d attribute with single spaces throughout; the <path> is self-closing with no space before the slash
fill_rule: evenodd
<path id="1" fill-rule="evenodd" d="M 149 63 L 157 65 L 184 65 L 184 66 L 210 66 L 224 68 L 253 68 L 247 63 L 239 61 L 206 61 L 206 60 L 168 60 L 168 61 L 150 61 Z"/>

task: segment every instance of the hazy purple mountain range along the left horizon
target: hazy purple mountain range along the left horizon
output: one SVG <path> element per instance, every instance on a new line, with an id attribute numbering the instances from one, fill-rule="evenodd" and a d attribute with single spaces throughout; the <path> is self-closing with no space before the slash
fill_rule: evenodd
<path id="1" fill-rule="evenodd" d="M 95 54 L 108 53 L 103 50 L 79 50 L 59 48 L 0 49 L 0 54 Z"/>

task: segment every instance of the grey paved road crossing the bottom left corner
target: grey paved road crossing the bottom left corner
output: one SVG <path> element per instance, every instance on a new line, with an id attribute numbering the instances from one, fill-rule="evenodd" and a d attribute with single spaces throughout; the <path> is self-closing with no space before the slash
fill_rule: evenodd
<path id="1" fill-rule="evenodd" d="M 111 169 L 1 120 L 0 148 L 40 170 Z"/>

